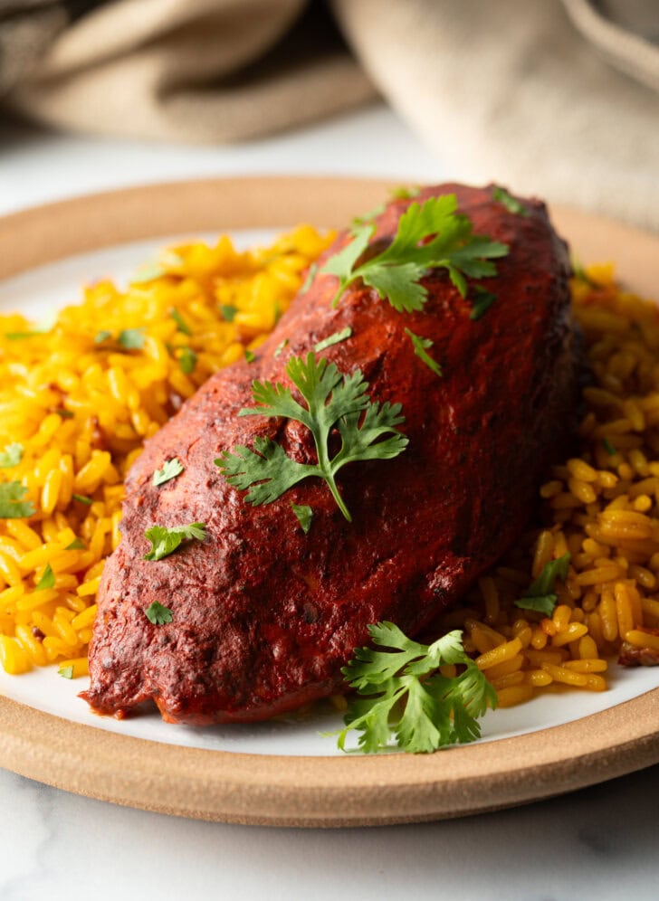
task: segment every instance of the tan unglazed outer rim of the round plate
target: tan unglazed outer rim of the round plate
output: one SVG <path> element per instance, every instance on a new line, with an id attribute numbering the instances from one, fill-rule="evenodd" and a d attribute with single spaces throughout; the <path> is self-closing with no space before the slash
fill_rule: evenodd
<path id="1" fill-rule="evenodd" d="M 0 279 L 84 251 L 186 232 L 341 225 L 390 183 L 249 177 L 148 185 L 0 220 Z M 635 291 L 659 295 L 659 237 L 552 211 L 584 260 L 614 259 Z M 94 273 L 90 273 L 90 277 Z M 172 727 L 176 728 L 176 727 Z M 529 735 L 431 755 L 242 754 L 118 735 L 0 697 L 0 765 L 104 801 L 204 820 L 362 826 L 492 811 L 659 762 L 659 688 Z"/>

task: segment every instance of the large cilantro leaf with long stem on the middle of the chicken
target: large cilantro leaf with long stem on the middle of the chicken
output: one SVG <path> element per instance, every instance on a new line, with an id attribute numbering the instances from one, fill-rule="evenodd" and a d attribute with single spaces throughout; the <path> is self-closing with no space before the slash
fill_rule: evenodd
<path id="1" fill-rule="evenodd" d="M 368 398 L 368 382 L 359 370 L 341 375 L 324 357 L 309 354 L 306 360 L 292 356 L 286 373 L 300 391 L 306 406 L 291 389 L 280 383 L 253 382 L 256 407 L 239 416 L 284 416 L 305 425 L 313 435 L 318 463 L 298 463 L 270 438 L 258 437 L 253 450 L 244 445 L 225 450 L 215 465 L 234 488 L 250 488 L 245 498 L 253 505 L 269 504 L 302 479 L 319 476 L 327 482 L 344 517 L 352 522 L 336 484 L 336 475 L 347 463 L 359 460 L 391 460 L 406 449 L 407 439 L 397 425 L 405 422 L 399 403 L 377 403 Z M 330 457 L 330 432 L 339 431 L 341 446 Z M 387 437 L 386 437 L 387 436 Z"/>

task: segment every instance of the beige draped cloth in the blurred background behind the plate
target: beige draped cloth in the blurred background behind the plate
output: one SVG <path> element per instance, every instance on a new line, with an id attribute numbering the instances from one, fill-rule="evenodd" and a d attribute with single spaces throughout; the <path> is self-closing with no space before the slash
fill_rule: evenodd
<path id="1" fill-rule="evenodd" d="M 57 128 L 240 141 L 377 92 L 463 179 L 659 230 L 656 0 L 0 0 L 2 102 Z"/>

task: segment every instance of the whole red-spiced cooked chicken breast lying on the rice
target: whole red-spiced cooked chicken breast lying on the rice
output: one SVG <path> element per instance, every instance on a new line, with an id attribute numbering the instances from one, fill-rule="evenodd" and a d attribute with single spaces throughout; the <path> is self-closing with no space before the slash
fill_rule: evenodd
<path id="1" fill-rule="evenodd" d="M 252 364 L 217 373 L 147 441 L 100 586 L 84 696 L 96 710 L 123 716 L 153 698 L 167 721 L 201 725 L 260 720 L 328 696 L 368 641 L 369 623 L 391 620 L 414 635 L 519 536 L 574 426 L 567 249 L 537 201 L 511 213 L 491 187 L 461 185 L 426 188 L 415 200 L 447 193 L 474 232 L 510 248 L 498 274 L 479 280 L 497 296 L 482 318 L 470 317 L 473 298 L 443 269 L 426 274 L 427 303 L 414 313 L 360 283 L 332 307 L 338 281 L 318 274 Z M 378 217 L 377 246 L 409 203 Z M 327 256 L 349 240 L 339 237 Z M 318 356 L 343 374 L 360 369 L 372 400 L 402 404 L 406 450 L 341 469 L 352 522 L 315 477 L 253 507 L 215 465 L 224 451 L 267 436 L 294 460 L 315 462 L 301 423 L 238 416 L 254 405 L 253 379 L 291 386 L 291 356 L 347 327 L 350 337 Z M 441 377 L 406 329 L 433 341 Z M 175 457 L 184 471 L 154 486 L 154 470 Z M 291 504 L 312 508 L 309 534 Z M 149 527 L 188 523 L 205 524 L 204 541 L 145 559 Z M 155 601 L 170 622 L 149 621 Z"/>

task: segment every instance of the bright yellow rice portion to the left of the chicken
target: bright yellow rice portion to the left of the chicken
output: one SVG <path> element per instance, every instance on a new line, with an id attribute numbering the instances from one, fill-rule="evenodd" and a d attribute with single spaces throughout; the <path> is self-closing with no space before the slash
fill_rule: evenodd
<path id="1" fill-rule="evenodd" d="M 119 544 L 122 480 L 144 439 L 209 375 L 259 346 L 331 240 L 300 226 L 263 250 L 236 251 L 228 237 L 190 243 L 125 291 L 91 285 L 47 333 L 0 316 L 0 452 L 23 447 L 0 484 L 21 482 L 35 509 L 0 518 L 7 672 L 53 662 L 65 676 L 87 672 L 100 575 Z M 128 343 L 141 344 L 133 349 L 119 340 L 131 329 L 140 330 L 129 331 L 137 341 Z M 48 564 L 54 585 L 35 590 Z"/>

